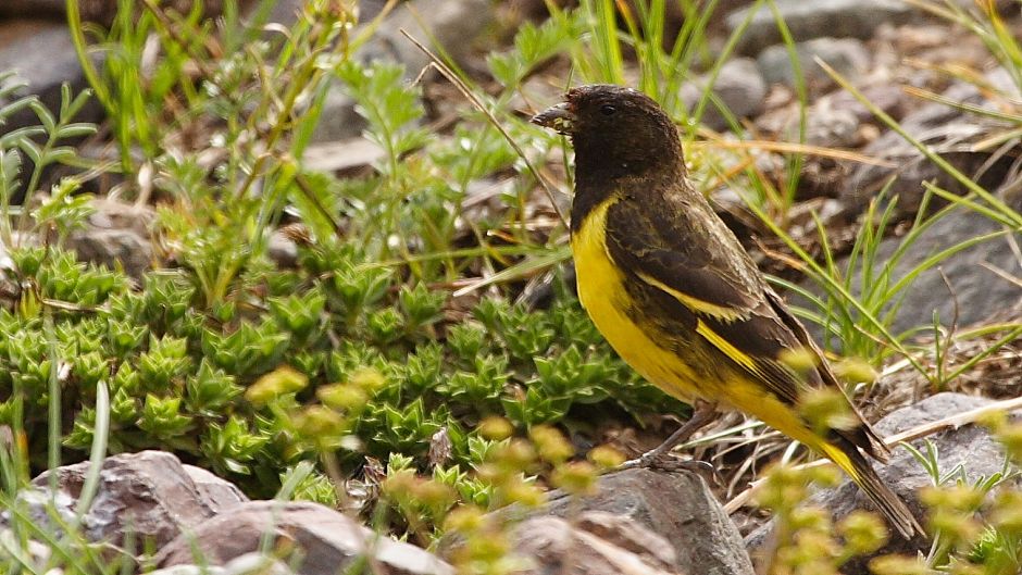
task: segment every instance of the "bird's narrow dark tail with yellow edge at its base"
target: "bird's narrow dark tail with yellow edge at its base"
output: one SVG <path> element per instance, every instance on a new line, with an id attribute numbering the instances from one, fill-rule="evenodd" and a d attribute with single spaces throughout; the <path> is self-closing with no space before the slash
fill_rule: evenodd
<path id="1" fill-rule="evenodd" d="M 831 442 L 820 446 L 820 450 L 851 477 L 906 540 L 917 533 L 925 533 L 905 501 L 880 478 L 873 465 L 851 441 L 834 437 Z"/>

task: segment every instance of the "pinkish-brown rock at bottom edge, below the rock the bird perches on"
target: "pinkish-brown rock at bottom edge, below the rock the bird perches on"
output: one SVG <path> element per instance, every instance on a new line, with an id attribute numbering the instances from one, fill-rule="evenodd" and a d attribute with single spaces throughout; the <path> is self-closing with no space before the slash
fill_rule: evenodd
<path id="1" fill-rule="evenodd" d="M 614 545 L 593 533 L 589 527 L 594 525 L 611 534 L 620 533 L 619 529 L 632 532 L 633 537 L 628 541 L 637 548 L 625 549 Z M 677 574 L 671 567 L 673 549 L 663 538 L 615 515 L 583 513 L 577 527 L 560 517 L 533 517 L 515 528 L 514 540 L 515 553 L 529 565 L 515 572 L 521 575 Z M 670 550 L 670 553 L 666 558 L 658 555 L 657 550 L 644 549 L 645 543 L 652 543 L 661 553 L 664 550 Z"/>

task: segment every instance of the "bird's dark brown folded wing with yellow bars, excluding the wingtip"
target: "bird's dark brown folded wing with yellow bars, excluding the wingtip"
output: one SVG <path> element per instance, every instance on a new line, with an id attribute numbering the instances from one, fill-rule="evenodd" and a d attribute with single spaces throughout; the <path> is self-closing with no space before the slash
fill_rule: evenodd
<path id="1" fill-rule="evenodd" d="M 678 211 L 627 199 L 614 203 L 607 214 L 610 257 L 631 276 L 633 289 L 646 292 L 645 301 L 660 302 L 664 315 L 695 315 L 675 329 L 695 329 L 777 398 L 795 404 L 807 383 L 781 357 L 800 342 L 766 300 L 769 288 L 759 271 L 723 223 L 722 229 L 699 227 L 719 223 L 712 214 L 686 217 L 680 211 L 709 210 L 705 203 L 673 208 Z M 662 325 L 669 320 L 656 321 Z"/>

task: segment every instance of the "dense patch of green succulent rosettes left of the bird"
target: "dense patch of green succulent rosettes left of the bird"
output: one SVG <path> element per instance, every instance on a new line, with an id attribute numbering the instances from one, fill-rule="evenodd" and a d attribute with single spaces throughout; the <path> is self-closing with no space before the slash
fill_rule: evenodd
<path id="1" fill-rule="evenodd" d="M 473 429 L 487 416 L 525 429 L 587 404 L 681 408 L 612 355 L 563 288 L 547 310 L 485 299 L 449 323 L 444 292 L 402 284 L 351 243 L 300 251 L 297 268 L 260 266 L 246 298 L 204 310 L 187 271 L 133 289 L 70 252 L 14 250 L 23 288 L 0 310 L 0 423 L 25 432 L 41 468 L 55 377 L 63 443 L 84 453 L 102 383 L 111 452 L 171 450 L 265 496 L 324 448 L 349 470 L 395 453 L 425 466 L 443 430 L 444 463 L 479 463 Z"/>

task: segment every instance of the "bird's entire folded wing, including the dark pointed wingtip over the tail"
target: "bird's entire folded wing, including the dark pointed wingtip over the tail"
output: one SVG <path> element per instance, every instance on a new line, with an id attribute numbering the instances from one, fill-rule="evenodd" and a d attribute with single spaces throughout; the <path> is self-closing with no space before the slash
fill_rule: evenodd
<path id="1" fill-rule="evenodd" d="M 635 203 L 619 201 L 607 217 L 608 251 L 637 280 L 633 282 L 638 284 L 637 289 L 648 293 L 644 298 L 647 304 L 658 305 L 664 316 L 677 317 L 685 324 L 677 327 L 695 329 L 785 403 L 797 404 L 809 387 L 825 386 L 844 392 L 806 328 L 759 278 L 751 261 L 718 255 L 718 252 L 740 253 L 727 247 L 714 252 L 687 241 L 710 234 L 686 228 L 693 225 L 688 218 L 650 212 Z M 723 238 L 733 239 L 730 235 Z M 663 316 L 658 321 L 670 322 Z M 782 359 L 785 350 L 814 353 L 819 360 L 817 368 L 795 373 Z M 849 404 L 855 410 L 850 400 Z M 861 414 L 855 413 L 860 425 L 833 433 L 886 461 L 888 448 Z"/>

